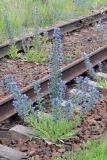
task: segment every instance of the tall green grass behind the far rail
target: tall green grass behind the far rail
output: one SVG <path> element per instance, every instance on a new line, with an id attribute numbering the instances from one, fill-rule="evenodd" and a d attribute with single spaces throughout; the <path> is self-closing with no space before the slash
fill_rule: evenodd
<path id="1" fill-rule="evenodd" d="M 83 0 L 82 0 L 83 1 Z M 107 4 L 107 0 L 87 0 L 89 5 L 75 6 L 73 0 L 48 0 L 48 5 L 42 0 L 1 0 L 0 1 L 0 42 L 7 39 L 3 19 L 3 10 L 9 14 L 14 36 L 21 34 L 22 26 L 32 30 L 35 9 L 40 12 L 40 27 L 44 28 L 61 21 L 68 21 L 90 13 L 93 8 Z M 86 2 L 86 1 L 85 1 Z"/>

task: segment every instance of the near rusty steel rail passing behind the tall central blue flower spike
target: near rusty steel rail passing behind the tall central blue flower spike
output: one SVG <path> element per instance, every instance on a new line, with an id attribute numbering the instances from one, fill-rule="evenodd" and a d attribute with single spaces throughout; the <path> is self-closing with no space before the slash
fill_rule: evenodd
<path id="1" fill-rule="evenodd" d="M 99 62 L 107 60 L 107 46 L 102 47 L 96 50 L 95 52 L 91 53 L 90 60 L 92 62 L 93 67 L 96 66 Z M 80 58 L 63 68 L 62 78 L 66 81 L 66 83 L 68 83 L 86 71 L 87 68 L 84 65 L 84 59 Z M 43 79 L 39 80 L 43 96 L 48 95 L 48 79 L 49 77 L 46 76 Z M 27 94 L 29 98 L 32 99 L 32 101 L 35 100 L 35 94 L 32 85 L 28 85 L 27 87 L 23 88 L 21 92 Z M 0 101 L 0 122 L 16 114 L 16 111 L 12 105 L 12 100 L 13 97 L 10 95 Z"/>

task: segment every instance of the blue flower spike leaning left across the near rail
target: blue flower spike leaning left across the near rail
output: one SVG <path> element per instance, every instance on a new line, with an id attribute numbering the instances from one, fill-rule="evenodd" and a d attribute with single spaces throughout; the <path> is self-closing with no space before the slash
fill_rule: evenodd
<path id="1" fill-rule="evenodd" d="M 18 115 L 22 119 L 25 119 L 29 112 L 34 112 L 34 107 L 31 107 L 31 100 L 29 100 L 25 94 L 21 94 L 17 83 L 14 81 L 11 75 L 6 75 L 4 80 L 4 84 L 6 85 L 7 89 L 13 95 L 13 106 L 15 107 Z"/>

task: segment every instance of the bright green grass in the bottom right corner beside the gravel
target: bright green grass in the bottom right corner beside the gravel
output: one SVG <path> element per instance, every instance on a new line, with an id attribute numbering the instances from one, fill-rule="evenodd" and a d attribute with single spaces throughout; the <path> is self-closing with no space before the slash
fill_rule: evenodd
<path id="1" fill-rule="evenodd" d="M 107 138 L 99 143 L 90 142 L 87 149 L 79 152 L 67 153 L 63 158 L 57 157 L 54 160 L 107 160 Z"/>

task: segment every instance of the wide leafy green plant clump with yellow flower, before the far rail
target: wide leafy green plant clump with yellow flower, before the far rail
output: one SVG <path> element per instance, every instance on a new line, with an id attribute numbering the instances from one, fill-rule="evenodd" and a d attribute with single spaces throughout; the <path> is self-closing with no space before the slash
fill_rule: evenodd
<path id="1" fill-rule="evenodd" d="M 23 38 L 23 49 L 24 49 L 24 56 L 23 60 L 25 62 L 33 62 L 35 64 L 42 64 L 43 62 L 48 60 L 49 56 L 49 48 L 47 47 L 47 39 L 48 39 L 48 33 L 44 32 L 43 37 L 40 38 L 40 34 L 37 35 L 38 38 L 34 44 L 34 46 L 31 48 L 31 39 Z M 36 44 L 36 45 L 35 45 Z"/>

